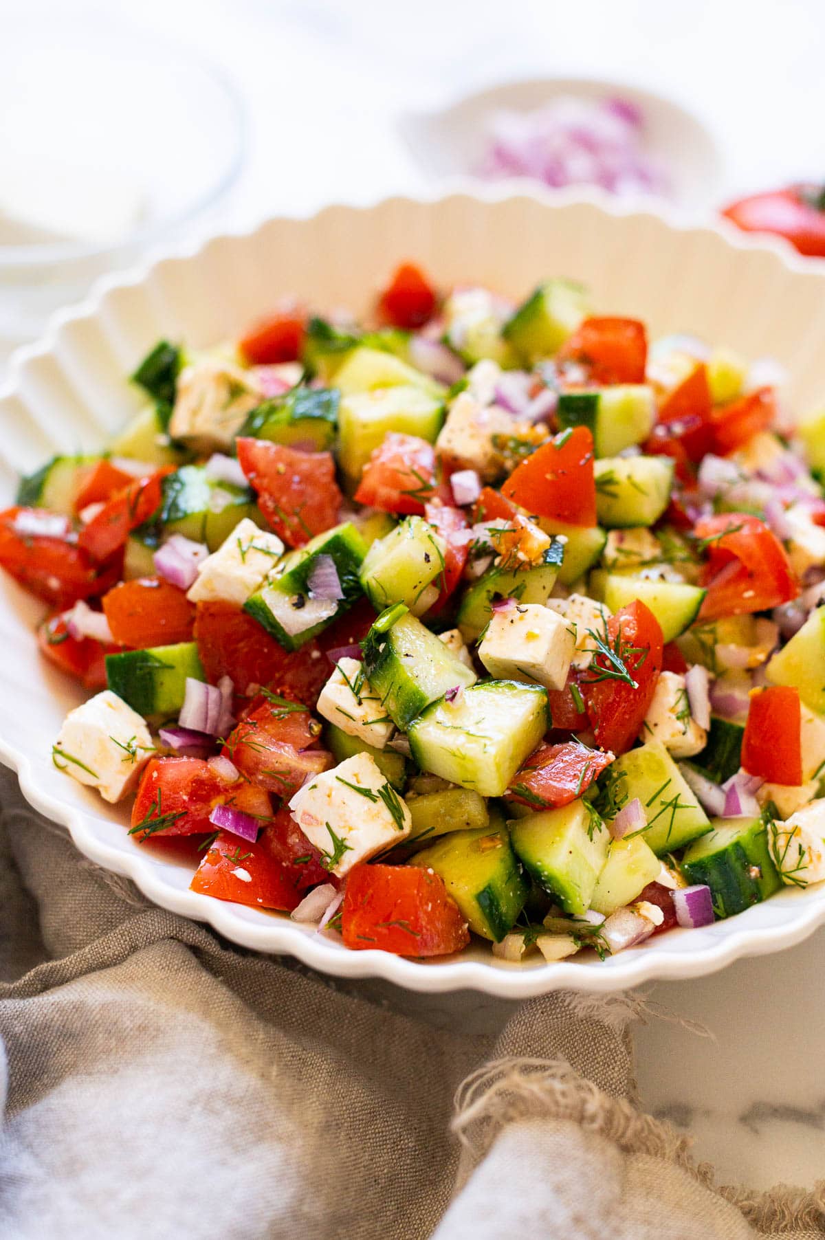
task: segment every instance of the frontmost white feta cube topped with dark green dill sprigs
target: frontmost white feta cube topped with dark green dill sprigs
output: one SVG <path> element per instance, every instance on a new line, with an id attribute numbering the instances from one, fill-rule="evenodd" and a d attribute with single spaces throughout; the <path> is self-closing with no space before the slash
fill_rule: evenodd
<path id="1" fill-rule="evenodd" d="M 295 792 L 289 807 L 339 878 L 412 830 L 409 810 L 370 754 L 356 754 L 316 775 Z"/>

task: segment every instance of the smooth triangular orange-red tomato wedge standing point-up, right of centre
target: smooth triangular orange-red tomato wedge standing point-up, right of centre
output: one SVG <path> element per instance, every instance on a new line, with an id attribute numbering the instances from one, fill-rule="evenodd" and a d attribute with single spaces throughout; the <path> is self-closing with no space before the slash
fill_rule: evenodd
<path id="1" fill-rule="evenodd" d="M 556 435 L 515 467 L 501 494 L 540 517 L 594 526 L 593 435 L 587 427 Z"/>

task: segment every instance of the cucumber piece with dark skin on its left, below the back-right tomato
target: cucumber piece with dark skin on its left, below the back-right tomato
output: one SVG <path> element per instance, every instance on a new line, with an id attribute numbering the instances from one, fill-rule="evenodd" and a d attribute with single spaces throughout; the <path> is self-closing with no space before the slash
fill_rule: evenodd
<path id="1" fill-rule="evenodd" d="M 646 383 L 617 383 L 594 392 L 562 392 L 556 409 L 560 430 L 587 427 L 597 456 L 618 456 L 641 444 L 656 422 L 656 398 Z"/>

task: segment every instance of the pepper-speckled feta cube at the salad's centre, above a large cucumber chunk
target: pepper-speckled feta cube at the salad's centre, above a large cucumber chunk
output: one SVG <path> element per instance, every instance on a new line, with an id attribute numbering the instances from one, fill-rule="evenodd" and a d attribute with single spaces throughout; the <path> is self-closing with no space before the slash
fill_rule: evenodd
<path id="1" fill-rule="evenodd" d="M 494 611 L 479 646 L 490 676 L 527 681 L 547 689 L 567 682 L 576 635 L 563 616 L 540 603 L 516 603 Z"/>

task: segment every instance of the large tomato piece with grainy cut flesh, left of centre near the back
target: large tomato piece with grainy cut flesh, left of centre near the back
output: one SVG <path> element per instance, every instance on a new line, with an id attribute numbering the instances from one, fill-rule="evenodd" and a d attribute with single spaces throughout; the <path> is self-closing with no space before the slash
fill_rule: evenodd
<path id="1" fill-rule="evenodd" d="M 337 523 L 342 496 L 331 453 L 303 453 L 265 439 L 236 439 L 236 446 L 258 507 L 285 543 L 303 547 Z"/>

